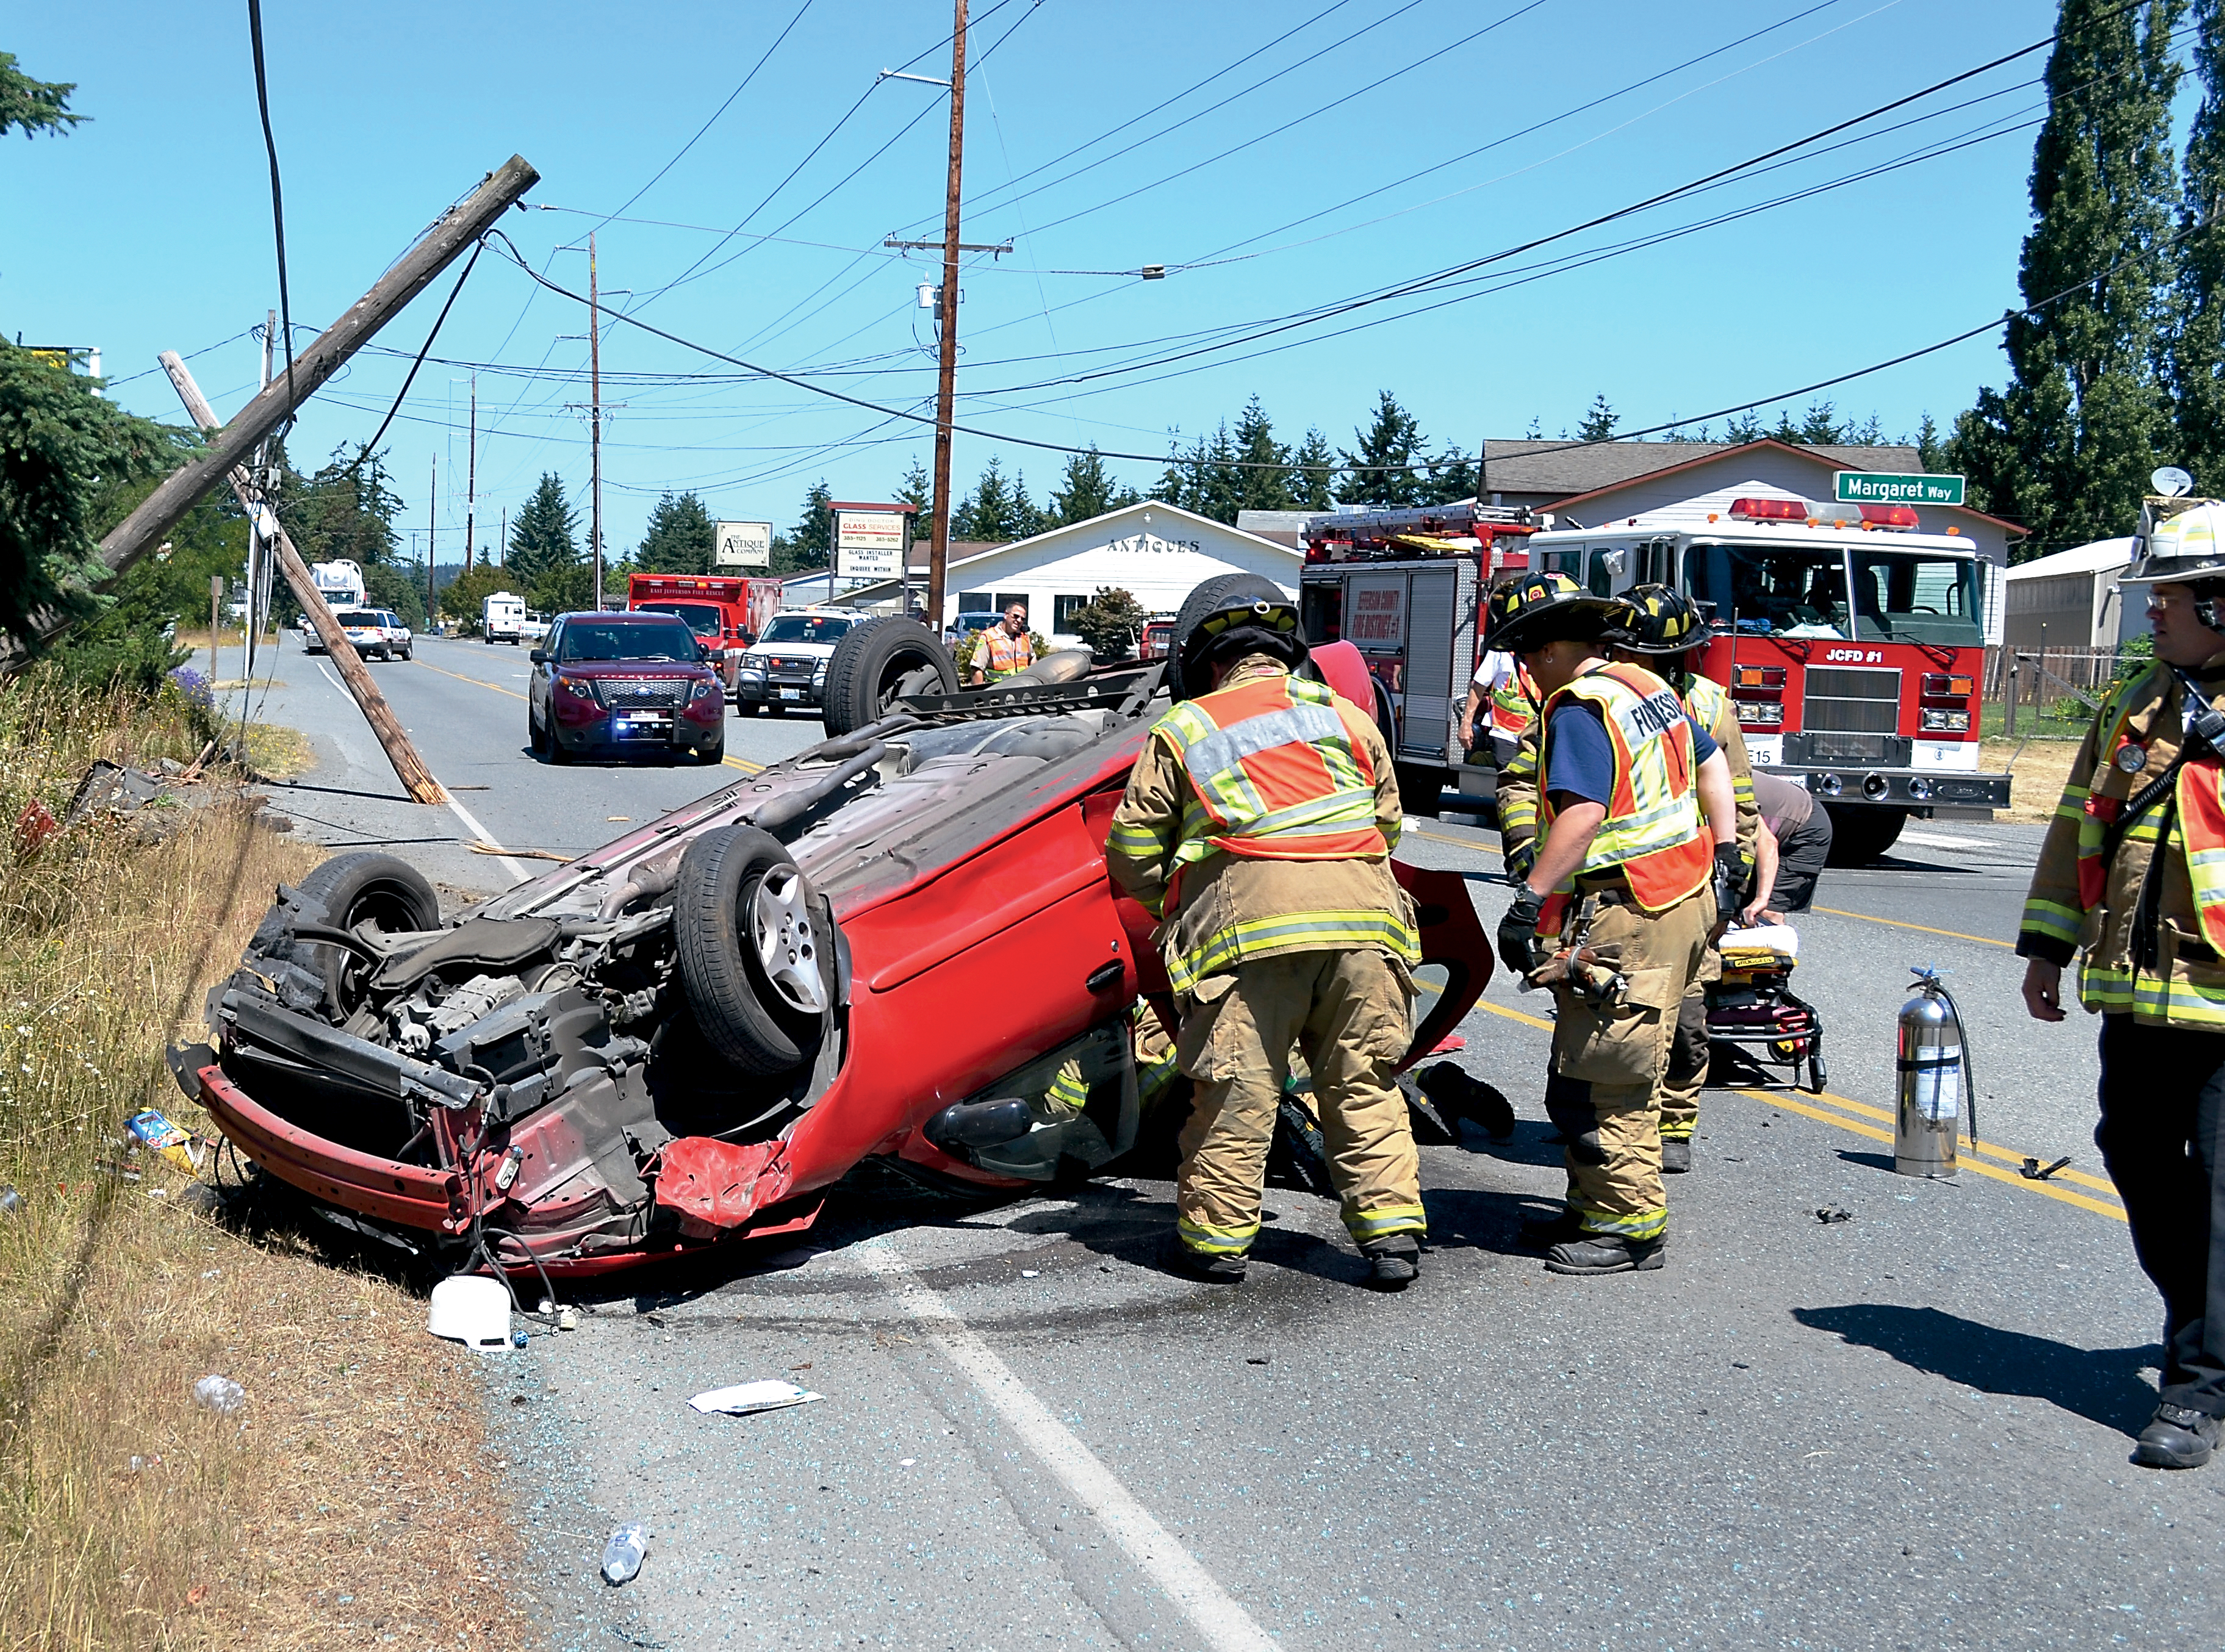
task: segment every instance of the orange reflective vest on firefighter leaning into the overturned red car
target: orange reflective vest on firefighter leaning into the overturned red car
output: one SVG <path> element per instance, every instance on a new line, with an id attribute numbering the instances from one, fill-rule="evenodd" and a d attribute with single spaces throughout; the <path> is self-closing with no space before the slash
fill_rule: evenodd
<path id="1" fill-rule="evenodd" d="M 1262 860 L 1375 860 L 1391 845 L 1375 825 L 1375 765 L 1353 725 L 1357 707 L 1319 683 L 1257 678 L 1166 711 L 1153 736 L 1190 778 L 1168 885 L 1222 849 Z"/>

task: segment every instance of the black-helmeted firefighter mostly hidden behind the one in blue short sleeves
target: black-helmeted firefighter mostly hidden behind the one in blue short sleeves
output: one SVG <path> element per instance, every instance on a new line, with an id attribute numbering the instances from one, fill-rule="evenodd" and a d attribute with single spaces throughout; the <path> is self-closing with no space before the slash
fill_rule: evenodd
<path id="1" fill-rule="evenodd" d="M 1731 803 L 1738 807 L 1738 856 L 1749 878 L 1760 834 L 1760 809 L 1753 803 L 1753 760 L 1738 729 L 1738 707 L 1713 678 L 1691 671 L 1689 651 L 1707 640 L 1707 623 L 1698 609 L 1667 585 L 1640 585 L 1629 594 L 1629 627 L 1609 636 L 1611 660 L 1644 665 L 1660 676 L 1691 711 L 1691 720 L 1722 749 L 1731 769 Z M 1529 856 L 1537 852 L 1537 723 L 1522 732 L 1515 756 L 1500 769 L 1500 852 L 1506 876 L 1520 883 L 1529 876 Z M 1517 869 L 1520 867 L 1520 869 Z M 1669 1065 L 1662 1069 L 1660 1109 L 1662 1174 L 1691 1170 L 1691 1136 L 1700 1123 L 1700 1089 L 1707 1085 L 1707 987 L 1722 981 L 1722 954 L 1709 945 L 1698 974 L 1678 1007 L 1675 1036 L 1669 1043 Z"/>

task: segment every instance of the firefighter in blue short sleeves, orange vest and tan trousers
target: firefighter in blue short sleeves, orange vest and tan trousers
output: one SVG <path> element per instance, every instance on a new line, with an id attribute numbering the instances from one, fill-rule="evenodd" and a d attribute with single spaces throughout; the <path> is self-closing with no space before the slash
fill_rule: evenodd
<path id="1" fill-rule="evenodd" d="M 1522 656 L 1537 718 L 1540 836 L 1500 923 L 1500 956 L 1555 1001 L 1546 1112 L 1569 1138 L 1569 1210 L 1546 1267 L 1660 1267 L 1658 1085 L 1709 936 L 1744 869 L 1729 760 L 1667 683 L 1611 663 L 1638 614 L 1562 574 L 1491 603 L 1486 647 Z"/>

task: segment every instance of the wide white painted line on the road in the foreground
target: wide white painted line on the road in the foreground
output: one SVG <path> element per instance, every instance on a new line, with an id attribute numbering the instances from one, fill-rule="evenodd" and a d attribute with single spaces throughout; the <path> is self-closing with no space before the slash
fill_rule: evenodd
<path id="1" fill-rule="evenodd" d="M 1112 1534 L 1130 1561 L 1166 1590 L 1181 1614 L 1197 1628 L 1213 1652 L 1279 1652 L 1259 1621 L 1237 1605 L 1213 1574 L 1197 1563 L 1175 1534 L 1121 1485 L 1097 1454 L 1084 1445 L 1039 1401 L 1012 1367 L 990 1352 L 943 1301 L 941 1292 L 921 1285 L 903 1254 L 886 1238 L 872 1238 L 852 1252 L 870 1274 L 879 1276 L 903 1303 L 906 1312 L 966 1372 L 981 1396 L 1026 1441 L 1044 1467 L 1059 1476 L 1099 1525 Z"/>

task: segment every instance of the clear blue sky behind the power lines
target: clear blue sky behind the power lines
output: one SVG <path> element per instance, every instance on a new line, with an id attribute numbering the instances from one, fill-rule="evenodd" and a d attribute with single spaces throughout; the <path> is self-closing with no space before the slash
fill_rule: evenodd
<path id="1" fill-rule="evenodd" d="M 948 73 L 950 11 L 812 0 L 797 18 L 799 4 L 267 0 L 303 342 L 481 173 L 523 153 L 543 178 L 536 209 L 505 229 L 552 280 L 585 287 L 574 247 L 601 225 L 614 305 L 879 407 L 930 411 L 932 318 L 914 285 L 932 260 L 881 240 L 941 233 L 943 93 L 874 76 Z M 1495 282 L 1164 360 L 1210 342 L 1208 329 L 1273 325 L 1744 160 L 2029 44 L 2054 7 L 975 0 L 975 20 L 966 240 L 1010 238 L 1015 251 L 972 258 L 963 280 L 959 422 L 1001 440 L 959 436 L 957 478 L 997 454 L 1041 500 L 1061 458 L 1021 438 L 1155 454 L 1168 427 L 1208 429 L 1253 394 L 1284 438 L 1319 425 L 1351 445 L 1375 394 L 1393 389 L 1433 442 L 1473 447 L 1533 420 L 1560 434 L 1595 394 L 1626 427 L 1653 425 L 1974 327 L 2016 302 L 2045 56 L 1842 133 L 1827 153 L 1511 258 Z M 24 9 L 0 49 L 33 76 L 76 80 L 76 109 L 91 116 L 67 138 L 0 147 L 13 231 L 0 242 L 0 327 L 100 345 L 107 374 L 129 380 L 118 400 L 158 418 L 178 409 L 147 371 L 156 351 L 207 349 L 194 369 L 234 411 L 256 382 L 258 347 L 243 334 L 276 302 L 245 7 Z M 1940 147 L 1740 222 L 1544 267 Z M 1170 273 L 1119 273 L 1144 265 Z M 445 287 L 378 340 L 400 356 L 358 356 L 309 402 L 298 458 L 376 429 Z M 1402 314 L 1420 302 L 1437 307 Z M 387 436 L 405 529 L 423 534 L 438 509 L 443 560 L 461 547 L 469 362 L 481 536 L 545 469 L 585 502 L 581 305 L 481 258 L 434 356 L 454 365 L 425 367 Z M 625 322 L 607 325 L 603 369 L 619 405 L 603 471 L 614 554 L 665 489 L 785 527 L 808 482 L 883 498 L 930 454 L 921 425 L 743 378 Z M 1075 382 L 1084 374 L 1097 376 Z M 1980 338 L 1833 400 L 1900 436 L 2000 378 L 1998 347 Z M 1115 471 L 1148 485 L 1157 467 Z"/>

